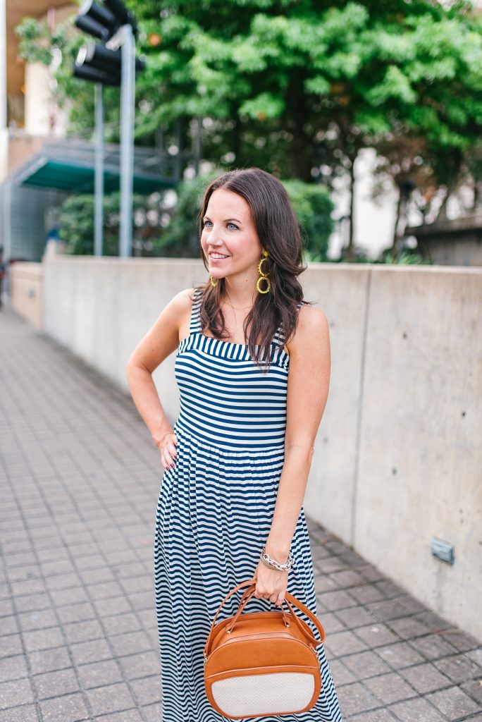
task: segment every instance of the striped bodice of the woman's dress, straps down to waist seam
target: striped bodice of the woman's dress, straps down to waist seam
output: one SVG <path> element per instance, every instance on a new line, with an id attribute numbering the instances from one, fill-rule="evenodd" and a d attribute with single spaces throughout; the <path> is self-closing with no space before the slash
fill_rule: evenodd
<path id="1" fill-rule="evenodd" d="M 175 360 L 180 391 L 176 431 L 232 451 L 283 447 L 289 355 L 281 329 L 271 342 L 266 372 L 247 344 L 201 334 L 200 308 L 201 289 L 196 289 L 189 336 L 180 342 Z"/>

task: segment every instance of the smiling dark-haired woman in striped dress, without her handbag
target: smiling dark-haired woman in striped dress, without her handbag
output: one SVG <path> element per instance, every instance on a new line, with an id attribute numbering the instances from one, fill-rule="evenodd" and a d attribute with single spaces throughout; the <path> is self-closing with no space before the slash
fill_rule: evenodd
<path id="1" fill-rule="evenodd" d="M 281 607 L 287 590 L 316 614 L 302 501 L 328 396 L 330 340 L 323 311 L 302 300 L 297 221 L 281 183 L 250 168 L 207 188 L 199 232 L 209 279 L 172 298 L 127 369 L 165 469 L 155 536 L 164 722 L 225 719 L 206 697 L 203 646 L 233 586 L 255 578 L 247 612 Z M 176 349 L 181 404 L 172 428 L 152 372 Z M 218 620 L 239 601 L 233 594 Z M 316 649 L 317 703 L 260 720 L 341 722 L 323 644 Z"/>

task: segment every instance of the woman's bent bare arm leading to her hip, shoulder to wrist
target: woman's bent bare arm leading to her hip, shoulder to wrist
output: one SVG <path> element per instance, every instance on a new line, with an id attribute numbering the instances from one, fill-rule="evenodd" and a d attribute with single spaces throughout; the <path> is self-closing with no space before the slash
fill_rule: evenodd
<path id="1" fill-rule="evenodd" d="M 162 407 L 152 373 L 178 347 L 180 326 L 186 318 L 190 318 L 192 291 L 185 289 L 172 298 L 152 329 L 137 344 L 126 365 L 133 402 L 157 446 L 166 434 L 173 433 L 173 429 Z"/>

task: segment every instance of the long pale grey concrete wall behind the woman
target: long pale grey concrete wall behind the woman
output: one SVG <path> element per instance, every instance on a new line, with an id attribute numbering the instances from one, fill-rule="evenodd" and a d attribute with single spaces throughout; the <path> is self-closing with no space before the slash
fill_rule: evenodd
<path id="1" fill-rule="evenodd" d="M 45 261 L 45 330 L 127 388 L 133 347 L 201 261 Z M 332 373 L 304 506 L 482 640 L 482 269 L 310 264 Z M 172 421 L 175 354 L 154 372 Z M 455 544 L 455 564 L 432 556 Z"/>

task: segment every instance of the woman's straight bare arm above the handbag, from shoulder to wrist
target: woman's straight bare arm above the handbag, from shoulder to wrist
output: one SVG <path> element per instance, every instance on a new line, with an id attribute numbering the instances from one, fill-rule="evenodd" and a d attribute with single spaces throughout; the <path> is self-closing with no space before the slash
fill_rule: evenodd
<path id="1" fill-rule="evenodd" d="M 285 458 L 266 541 L 266 551 L 281 563 L 302 508 L 315 438 L 328 399 L 330 331 L 322 310 L 302 306 L 296 333 L 289 344 Z"/>

